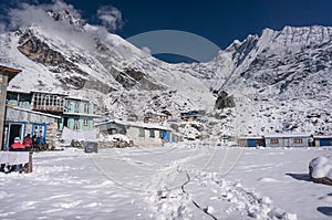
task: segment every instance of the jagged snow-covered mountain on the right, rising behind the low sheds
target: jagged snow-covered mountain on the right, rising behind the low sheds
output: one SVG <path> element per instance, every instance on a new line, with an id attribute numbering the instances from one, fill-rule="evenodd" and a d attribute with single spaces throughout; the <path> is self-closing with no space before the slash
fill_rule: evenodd
<path id="1" fill-rule="evenodd" d="M 266 29 L 231 45 L 232 94 L 240 134 L 331 134 L 332 28 Z M 230 49 L 229 48 L 229 49 Z"/>

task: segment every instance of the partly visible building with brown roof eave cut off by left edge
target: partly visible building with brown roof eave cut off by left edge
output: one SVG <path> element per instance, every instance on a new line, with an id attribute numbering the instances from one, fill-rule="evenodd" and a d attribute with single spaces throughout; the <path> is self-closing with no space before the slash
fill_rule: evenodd
<path id="1" fill-rule="evenodd" d="M 21 71 L 0 65 L 0 146 L 3 147 L 6 96 L 9 82 Z"/>

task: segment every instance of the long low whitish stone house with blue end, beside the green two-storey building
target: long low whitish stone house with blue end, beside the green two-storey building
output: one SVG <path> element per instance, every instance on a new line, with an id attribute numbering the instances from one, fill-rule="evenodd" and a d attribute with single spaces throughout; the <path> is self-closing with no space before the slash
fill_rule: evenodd
<path id="1" fill-rule="evenodd" d="M 105 121 L 97 125 L 100 134 L 123 134 L 133 140 L 134 146 L 162 146 L 165 142 L 178 142 L 180 136 L 172 128 L 158 124 L 139 122 Z"/>

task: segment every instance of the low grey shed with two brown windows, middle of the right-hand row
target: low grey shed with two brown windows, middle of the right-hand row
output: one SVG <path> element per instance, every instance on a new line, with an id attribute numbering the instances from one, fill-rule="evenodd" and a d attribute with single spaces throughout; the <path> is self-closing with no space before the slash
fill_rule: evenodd
<path id="1" fill-rule="evenodd" d="M 264 136 L 267 147 L 309 147 L 311 134 L 276 134 Z"/>

